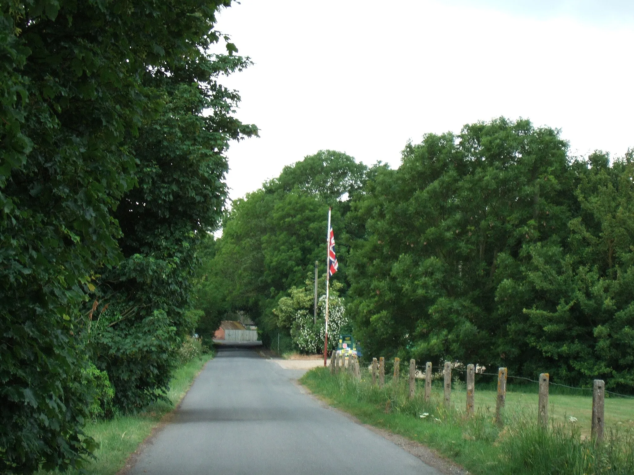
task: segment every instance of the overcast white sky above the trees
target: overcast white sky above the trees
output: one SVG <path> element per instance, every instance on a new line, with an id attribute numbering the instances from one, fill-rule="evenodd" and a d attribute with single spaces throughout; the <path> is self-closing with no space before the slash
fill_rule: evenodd
<path id="1" fill-rule="evenodd" d="M 500 115 L 575 155 L 634 147 L 634 1 L 241 1 L 217 27 L 256 64 L 223 84 L 261 137 L 228 151 L 233 199 L 320 149 L 396 168 L 408 139 Z"/>

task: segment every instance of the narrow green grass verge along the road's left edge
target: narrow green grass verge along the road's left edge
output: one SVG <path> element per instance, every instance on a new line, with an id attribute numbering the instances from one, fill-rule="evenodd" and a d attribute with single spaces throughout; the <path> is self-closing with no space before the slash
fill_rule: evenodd
<path id="1" fill-rule="evenodd" d="M 162 417 L 174 410 L 181 402 L 194 378 L 211 358 L 212 355 L 194 358 L 174 372 L 170 390 L 167 393 L 171 404 L 161 401 L 139 414 L 117 415 L 108 421 L 89 422 L 84 432 L 93 437 L 100 444 L 100 448 L 94 453 L 97 460 L 89 462 L 85 467 L 87 473 L 116 474 L 124 466 L 127 457 L 150 435 Z M 39 475 L 46 473 L 41 471 Z"/>

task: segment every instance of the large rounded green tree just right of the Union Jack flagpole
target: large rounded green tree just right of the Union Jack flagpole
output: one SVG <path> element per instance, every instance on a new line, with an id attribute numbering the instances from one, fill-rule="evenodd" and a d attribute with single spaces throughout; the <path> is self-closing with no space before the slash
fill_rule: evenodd
<path id="1" fill-rule="evenodd" d="M 501 256 L 557 239 L 572 196 L 566 143 L 525 120 L 408 144 L 401 167 L 379 173 L 349 214 L 365 227 L 349 277 L 368 349 L 497 363 L 507 341 L 495 318 Z"/>

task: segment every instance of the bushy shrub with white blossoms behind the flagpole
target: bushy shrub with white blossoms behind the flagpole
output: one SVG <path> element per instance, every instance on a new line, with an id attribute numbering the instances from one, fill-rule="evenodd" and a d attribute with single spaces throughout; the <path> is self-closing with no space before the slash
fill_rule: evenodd
<path id="1" fill-rule="evenodd" d="M 326 296 L 322 295 L 317 304 L 317 322 L 314 322 L 314 296 L 312 288 L 293 287 L 290 296 L 278 302 L 273 314 L 278 317 L 278 326 L 290 328 L 293 343 L 301 353 L 323 352 L 325 338 Z M 328 303 L 328 347 L 334 348 L 339 341 L 339 333 L 348 323 L 344 299 L 336 291 L 330 295 Z"/>

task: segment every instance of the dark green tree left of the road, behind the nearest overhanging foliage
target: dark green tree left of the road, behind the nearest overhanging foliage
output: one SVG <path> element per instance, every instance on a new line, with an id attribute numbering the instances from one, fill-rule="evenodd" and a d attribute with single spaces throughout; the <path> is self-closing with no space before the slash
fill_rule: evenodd
<path id="1" fill-rule="evenodd" d="M 97 279 L 100 304 L 109 307 L 93 338 L 96 363 L 108 371 L 122 409 L 143 407 L 169 389 L 181 339 L 193 333 L 196 253 L 223 212 L 223 154 L 230 140 L 257 133 L 231 117 L 239 98 L 216 77 L 247 64 L 200 53 L 144 81 L 164 105 L 134 140 L 138 186 L 115 212 L 123 260 Z"/>

